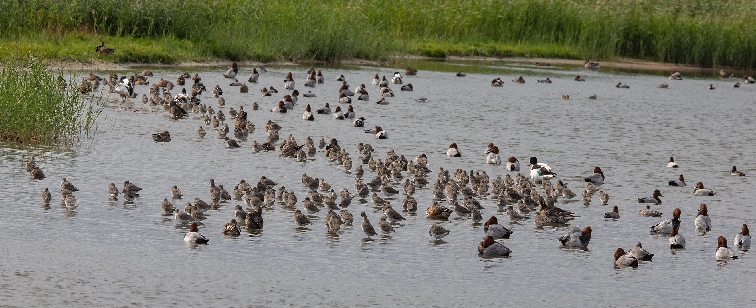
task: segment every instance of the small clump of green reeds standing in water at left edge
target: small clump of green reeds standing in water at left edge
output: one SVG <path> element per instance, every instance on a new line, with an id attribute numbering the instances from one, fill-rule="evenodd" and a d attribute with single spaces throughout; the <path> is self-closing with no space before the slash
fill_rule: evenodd
<path id="1" fill-rule="evenodd" d="M 34 57 L 3 63 L 0 70 L 0 141 L 59 142 L 73 146 L 88 132 L 104 107 L 102 100 L 85 100 L 67 78 L 69 88 L 56 85 L 54 72 Z"/>

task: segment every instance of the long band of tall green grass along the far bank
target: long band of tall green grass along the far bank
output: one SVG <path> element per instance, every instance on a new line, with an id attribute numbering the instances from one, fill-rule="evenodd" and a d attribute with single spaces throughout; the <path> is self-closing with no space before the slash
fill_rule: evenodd
<path id="1" fill-rule="evenodd" d="M 0 38 L 105 39 L 116 48 L 105 58 L 116 62 L 442 57 L 483 46 L 484 56 L 750 68 L 754 13 L 745 0 L 17 0 L 0 2 Z"/>

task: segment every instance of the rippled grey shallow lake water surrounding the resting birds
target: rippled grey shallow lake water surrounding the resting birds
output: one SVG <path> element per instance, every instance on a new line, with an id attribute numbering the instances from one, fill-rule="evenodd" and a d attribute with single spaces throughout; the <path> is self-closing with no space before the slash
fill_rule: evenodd
<path id="1" fill-rule="evenodd" d="M 390 79 L 395 71 L 410 65 L 420 69 L 404 76 L 414 91 L 399 91 L 389 105 L 375 103 L 378 87 L 371 85 L 376 73 Z M 175 82 L 182 72 L 198 73 L 208 90 L 220 85 L 225 108 L 209 91 L 203 103 L 228 116 L 229 107 L 243 106 L 256 131 L 228 149 L 217 131 L 206 127 L 205 137 L 197 128 L 205 127 L 200 117 L 189 115 L 170 119 L 163 109 L 142 106 L 141 100 L 120 103 L 116 94 L 103 93 L 108 103 L 98 119 L 94 138 L 73 150 L 20 146 L 3 143 L 0 156 L 0 230 L 5 235 L 0 261 L 0 306 L 667 306 L 689 303 L 695 306 L 753 304 L 754 259 L 751 251 L 736 249 L 739 260 L 716 260 L 717 237 L 725 236 L 733 245 L 743 223 L 756 222 L 750 192 L 756 175 L 754 154 L 754 93 L 756 85 L 742 79 L 719 79 L 710 75 L 683 74 L 685 80 L 668 80 L 666 72 L 585 70 L 575 66 L 537 67 L 531 63 L 411 61 L 392 66 L 314 66 L 321 69 L 325 83 L 307 88 L 305 71 L 310 66 L 269 66 L 259 83 L 249 85 L 249 93 L 239 93 L 224 79 L 225 67 L 181 67 L 152 69 L 151 83 L 160 78 Z M 116 71 L 119 75 L 141 72 L 143 68 Z M 455 72 L 464 70 L 466 77 Z M 252 67 L 240 67 L 240 82 Z M 290 91 L 283 79 L 293 72 L 296 89 L 317 97 L 299 97 L 288 113 L 270 112 Z M 107 76 L 109 72 L 95 72 Z M 318 109 L 325 103 L 339 104 L 334 79 L 345 75 L 354 89 L 364 84 L 370 93 L 367 102 L 352 103 L 366 128 L 380 125 L 389 139 L 376 140 L 351 120 L 334 120 L 315 115 L 302 120 L 307 104 Z M 510 82 L 522 75 L 526 82 Z M 575 75 L 586 82 L 575 82 Z M 491 79 L 501 77 L 503 87 L 491 87 Z M 550 77 L 553 83 L 536 82 Z M 187 85 L 191 81 L 187 81 Z M 618 82 L 631 88 L 615 88 Z M 669 88 L 656 88 L 668 84 Z M 713 84 L 716 89 L 709 90 Z M 272 97 L 261 97 L 259 89 L 273 85 Z M 147 85 L 138 85 L 139 96 Z M 107 88 L 107 86 L 105 87 Z M 187 86 L 187 89 L 189 87 Z M 181 86 L 172 91 L 180 93 Z M 562 94 L 569 100 L 562 100 Z M 597 100 L 587 97 L 596 94 Z M 427 97 L 428 103 L 414 99 Z M 253 110 L 258 102 L 259 110 Z M 418 187 L 414 197 L 417 214 L 401 211 L 407 218 L 392 223 L 396 232 L 367 239 L 361 232 L 360 212 L 367 212 L 378 226 L 380 208 L 369 197 L 355 198 L 347 208 L 355 216 L 354 226 L 329 232 L 325 212 L 311 217 L 313 223 L 298 228 L 293 208 L 283 202 L 265 208 L 262 230 L 246 230 L 240 236 L 221 234 L 222 226 L 234 218 L 232 199 L 206 212 L 200 233 L 208 245 L 184 244 L 188 225 L 179 224 L 160 208 L 167 198 L 183 209 L 195 197 L 209 202 L 211 178 L 229 192 L 241 179 L 253 184 L 261 176 L 296 192 L 301 201 L 309 195 L 302 186 L 302 174 L 327 180 L 338 192 L 355 192 L 355 176 L 324 157 L 320 150 L 308 162 L 280 156 L 280 151 L 253 153 L 251 143 L 265 140 L 265 122 L 277 122 L 280 137 L 289 134 L 302 144 L 309 136 L 317 144 L 336 138 L 346 149 L 354 168 L 360 165 L 357 144 L 370 143 L 373 155 L 385 159 L 394 149 L 407 159 L 425 153 L 435 181 L 439 167 L 486 171 L 494 180 L 508 172 L 500 165 L 486 165 L 486 145 L 491 142 L 506 159 L 516 156 L 522 174 L 530 156 L 537 156 L 553 168 L 558 178 L 578 193 L 575 199 L 559 198 L 557 206 L 579 216 L 572 221 L 581 228 L 591 226 L 588 248 L 562 247 L 556 239 L 569 226 L 537 228 L 532 215 L 516 223 L 495 206 L 495 196 L 480 197 L 485 219 L 499 217 L 513 230 L 510 239 L 499 242 L 512 249 L 509 257 L 478 254 L 483 239 L 482 223 L 452 215 L 449 220 L 429 220 L 425 210 L 432 205 L 432 183 Z M 233 121 L 226 123 L 233 128 Z M 153 142 L 151 134 L 170 131 L 169 143 Z M 231 137 L 232 134 L 229 134 Z M 91 137 L 91 136 L 90 136 Z M 279 141 L 280 143 L 280 141 Z M 457 143 L 461 158 L 446 156 L 450 143 Z M 40 152 L 45 156 L 39 158 Z M 29 156 L 38 156 L 44 180 L 33 180 L 23 165 Z M 680 168 L 665 168 L 674 156 Z M 737 165 L 746 177 L 730 176 Z M 583 177 L 600 166 L 606 183 L 599 188 L 609 194 L 609 204 L 590 205 L 580 200 Z M 365 167 L 364 181 L 375 177 Z M 517 172 L 510 172 L 514 177 Z M 407 176 L 407 172 L 404 175 Z M 686 187 L 668 186 L 668 181 L 684 174 Z M 60 202 L 60 178 L 66 177 L 80 190 L 74 192 L 79 208 L 68 211 Z M 110 199 L 107 185 L 121 187 L 129 180 L 143 188 L 133 202 L 121 196 Z M 403 180 L 402 180 L 403 181 Z M 556 180 L 553 180 L 555 182 Z M 693 196 L 697 182 L 717 192 L 716 196 Z M 177 185 L 184 199 L 171 199 Z M 401 183 L 392 183 L 401 191 Z M 49 187 L 51 205 L 42 205 L 41 192 Z M 660 189 L 665 198 L 652 205 L 664 217 L 637 214 L 645 205 L 638 197 L 651 196 Z M 538 188 L 543 194 L 543 189 Z M 325 193 L 325 192 L 323 192 Z M 371 192 L 372 194 L 372 192 Z M 380 194 L 380 193 L 379 193 Z M 380 195 L 383 197 L 383 195 Z M 404 192 L 389 199 L 401 209 Z M 461 199 L 461 196 L 460 196 Z M 694 219 L 699 205 L 708 205 L 713 229 L 696 232 Z M 451 208 L 448 201 L 442 205 Z M 618 206 L 621 218 L 603 214 Z M 302 204 L 296 206 L 302 209 Z M 686 249 L 668 248 L 668 236 L 649 232 L 649 226 L 671 218 L 674 208 L 682 210 L 680 234 Z M 249 208 L 246 208 L 249 211 Z M 340 211 L 339 211 L 340 212 Z M 455 218 L 457 217 L 457 218 Z M 451 234 L 441 241 L 429 241 L 433 224 Z M 628 250 L 643 242 L 655 254 L 652 262 L 640 266 L 614 266 L 617 248 Z"/>

